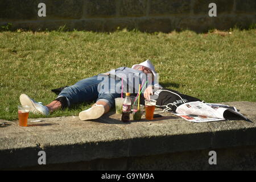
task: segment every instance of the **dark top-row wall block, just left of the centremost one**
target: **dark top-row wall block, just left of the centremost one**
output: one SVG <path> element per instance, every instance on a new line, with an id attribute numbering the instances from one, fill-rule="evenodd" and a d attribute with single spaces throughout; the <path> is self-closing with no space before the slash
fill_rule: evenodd
<path id="1" fill-rule="evenodd" d="M 116 15 L 116 3 L 112 0 L 85 0 L 86 17 L 110 17 Z"/>

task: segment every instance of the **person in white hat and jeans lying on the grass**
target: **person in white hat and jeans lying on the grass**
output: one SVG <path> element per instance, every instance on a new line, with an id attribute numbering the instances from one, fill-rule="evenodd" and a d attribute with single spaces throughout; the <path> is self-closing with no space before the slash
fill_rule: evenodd
<path id="1" fill-rule="evenodd" d="M 158 84 L 158 74 L 150 60 L 135 64 L 131 68 L 121 67 L 114 71 L 80 80 L 75 85 L 61 90 L 56 100 L 46 106 L 32 100 L 26 94 L 21 94 L 19 99 L 21 105 L 30 106 L 32 113 L 44 115 L 70 107 L 73 104 L 96 100 L 96 104 L 79 113 L 79 118 L 81 120 L 97 119 L 114 107 L 114 99 L 121 97 L 122 90 L 126 90 L 123 88 L 129 88 L 129 92 L 138 93 L 139 84 L 143 83 L 147 83 L 147 88 L 143 93 L 146 99 L 150 99 L 154 88 L 162 88 Z"/>

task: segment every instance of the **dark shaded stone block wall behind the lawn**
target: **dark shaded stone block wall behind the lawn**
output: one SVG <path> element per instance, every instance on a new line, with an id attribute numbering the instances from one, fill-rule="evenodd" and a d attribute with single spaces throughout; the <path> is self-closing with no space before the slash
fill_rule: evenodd
<path id="1" fill-rule="evenodd" d="M 46 5 L 40 17 L 39 3 Z M 216 4 L 216 15 L 208 7 Z M 217 28 L 247 28 L 256 23 L 255 0 L 1 0 L 0 26 L 11 30 L 115 31 L 137 28 L 147 32 Z"/>

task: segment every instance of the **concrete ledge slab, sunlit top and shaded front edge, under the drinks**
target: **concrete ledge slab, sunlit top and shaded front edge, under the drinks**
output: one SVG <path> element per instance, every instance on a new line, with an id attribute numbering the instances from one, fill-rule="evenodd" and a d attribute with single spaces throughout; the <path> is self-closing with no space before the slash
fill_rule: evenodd
<path id="1" fill-rule="evenodd" d="M 46 152 L 47 164 L 61 164 L 256 146 L 256 103 L 225 104 L 236 106 L 253 123 L 190 123 L 170 113 L 129 124 L 114 113 L 96 121 L 80 121 L 77 116 L 42 118 L 44 122 L 30 122 L 30 127 L 8 122 L 10 126 L 0 127 L 0 168 L 38 166 L 41 150 Z"/>

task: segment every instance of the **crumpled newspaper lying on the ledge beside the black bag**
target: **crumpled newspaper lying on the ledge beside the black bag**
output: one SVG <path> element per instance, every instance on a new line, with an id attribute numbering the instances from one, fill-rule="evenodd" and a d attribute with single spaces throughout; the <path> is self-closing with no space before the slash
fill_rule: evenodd
<path id="1" fill-rule="evenodd" d="M 250 121 L 236 107 L 200 101 L 184 103 L 177 107 L 174 114 L 190 122 L 221 121 L 229 118 L 243 118 Z"/>

